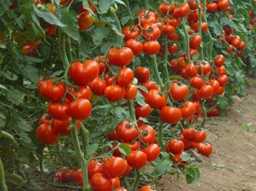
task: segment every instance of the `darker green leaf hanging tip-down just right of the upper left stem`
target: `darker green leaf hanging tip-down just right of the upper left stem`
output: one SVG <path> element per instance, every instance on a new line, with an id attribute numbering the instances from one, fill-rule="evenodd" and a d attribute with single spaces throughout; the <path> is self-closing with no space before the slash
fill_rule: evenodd
<path id="1" fill-rule="evenodd" d="M 77 17 L 75 11 L 68 11 L 67 9 L 63 9 L 64 14 L 61 17 L 61 22 L 63 22 L 66 26 L 63 27 L 63 31 L 71 37 L 73 40 L 80 41 L 80 33 L 79 27 L 77 25 Z"/>

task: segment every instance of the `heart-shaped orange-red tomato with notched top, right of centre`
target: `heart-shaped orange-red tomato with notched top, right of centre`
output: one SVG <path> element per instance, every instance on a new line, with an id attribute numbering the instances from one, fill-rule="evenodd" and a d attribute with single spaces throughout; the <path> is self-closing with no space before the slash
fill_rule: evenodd
<path id="1" fill-rule="evenodd" d="M 185 99 L 188 95 L 188 87 L 185 84 L 172 83 L 169 95 L 176 101 Z"/>

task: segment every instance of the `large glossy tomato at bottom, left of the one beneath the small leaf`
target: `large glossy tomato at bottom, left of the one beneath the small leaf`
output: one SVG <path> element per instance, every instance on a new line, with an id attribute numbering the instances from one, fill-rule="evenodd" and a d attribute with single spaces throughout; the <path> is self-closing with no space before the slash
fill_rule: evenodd
<path id="1" fill-rule="evenodd" d="M 125 168 L 125 160 L 121 157 L 113 157 L 103 165 L 103 169 L 106 171 L 104 175 L 106 174 L 110 179 L 122 175 L 125 172 Z"/>

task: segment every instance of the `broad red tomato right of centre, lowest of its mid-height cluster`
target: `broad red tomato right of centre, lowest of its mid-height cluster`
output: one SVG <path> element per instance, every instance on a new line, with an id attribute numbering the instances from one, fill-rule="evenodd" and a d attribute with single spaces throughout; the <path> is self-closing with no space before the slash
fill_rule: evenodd
<path id="1" fill-rule="evenodd" d="M 171 117 L 170 117 L 171 116 Z M 160 117 L 167 124 L 176 124 L 182 116 L 179 108 L 164 106 L 160 111 Z"/>

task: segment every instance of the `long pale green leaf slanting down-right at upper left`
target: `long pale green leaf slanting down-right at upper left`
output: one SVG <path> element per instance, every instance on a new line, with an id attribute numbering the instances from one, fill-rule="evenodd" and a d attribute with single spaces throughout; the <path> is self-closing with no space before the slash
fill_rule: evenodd
<path id="1" fill-rule="evenodd" d="M 55 15 L 48 11 L 48 9 L 39 10 L 33 3 L 33 10 L 35 11 L 36 15 L 40 18 L 44 19 L 49 24 L 55 24 L 59 27 L 65 27 L 66 25 L 63 24 Z"/>

